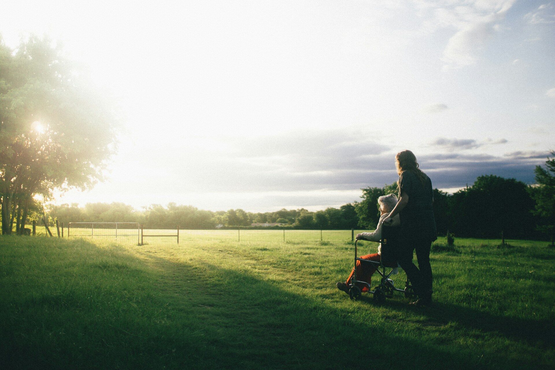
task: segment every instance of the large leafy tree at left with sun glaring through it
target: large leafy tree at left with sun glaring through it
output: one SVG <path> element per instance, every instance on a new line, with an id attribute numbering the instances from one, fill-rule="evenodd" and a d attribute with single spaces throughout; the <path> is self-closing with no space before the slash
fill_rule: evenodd
<path id="1" fill-rule="evenodd" d="M 114 151 L 110 105 L 48 38 L 0 39 L 2 234 L 23 234 L 33 196 L 92 186 Z"/>

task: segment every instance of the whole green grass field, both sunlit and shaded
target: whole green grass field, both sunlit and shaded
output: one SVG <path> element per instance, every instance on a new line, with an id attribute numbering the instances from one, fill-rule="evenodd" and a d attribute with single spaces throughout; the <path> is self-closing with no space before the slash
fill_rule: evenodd
<path id="1" fill-rule="evenodd" d="M 335 288 L 350 232 L 0 237 L 2 368 L 552 369 L 555 250 L 457 239 L 431 262 L 435 305 Z M 295 234 L 293 234 L 295 233 Z M 438 240 L 438 244 L 445 240 Z M 375 251 L 366 243 L 361 254 Z M 395 276 L 403 286 L 405 274 Z"/>

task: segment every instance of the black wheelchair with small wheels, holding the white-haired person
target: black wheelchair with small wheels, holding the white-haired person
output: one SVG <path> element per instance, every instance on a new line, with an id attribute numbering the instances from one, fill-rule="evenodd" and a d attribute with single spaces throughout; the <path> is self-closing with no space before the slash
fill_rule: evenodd
<path id="1" fill-rule="evenodd" d="M 359 240 L 355 240 L 355 272 L 351 277 L 351 281 L 347 285 L 349 288 L 349 297 L 351 300 L 358 300 L 362 296 L 362 290 L 359 287 L 360 285 L 366 286 L 368 288 L 368 293 L 371 293 L 374 296 L 374 300 L 376 302 L 385 302 L 386 298 L 393 297 L 393 293 L 400 292 L 405 295 L 407 298 L 411 298 L 415 296 L 415 292 L 411 286 L 408 277 L 405 281 L 405 288 L 400 289 L 395 287 L 393 284 L 393 280 L 389 277 L 393 272 L 393 268 L 397 267 L 397 257 L 396 257 L 396 249 L 400 245 L 399 244 L 399 236 L 398 236 L 398 227 L 395 226 L 387 226 L 382 225 L 382 237 L 381 237 L 381 259 L 380 261 L 370 261 L 361 259 L 358 257 L 358 242 Z M 356 262 L 360 261 L 360 266 L 363 266 L 363 263 L 371 263 L 376 268 L 376 271 L 380 274 L 381 279 L 379 285 L 372 287 L 366 281 L 360 281 L 356 278 Z"/>

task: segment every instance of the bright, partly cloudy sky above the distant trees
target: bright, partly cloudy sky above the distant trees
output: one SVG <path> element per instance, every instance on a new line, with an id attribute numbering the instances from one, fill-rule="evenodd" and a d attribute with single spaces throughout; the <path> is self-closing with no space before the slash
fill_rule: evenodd
<path id="1" fill-rule="evenodd" d="M 58 204 L 325 209 L 397 180 L 534 182 L 555 150 L 555 1 L 3 0 L 122 114 L 106 180 Z"/>

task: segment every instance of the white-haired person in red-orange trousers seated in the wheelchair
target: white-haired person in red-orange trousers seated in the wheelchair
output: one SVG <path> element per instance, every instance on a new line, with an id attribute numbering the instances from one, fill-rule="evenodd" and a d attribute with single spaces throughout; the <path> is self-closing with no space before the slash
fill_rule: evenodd
<path id="1" fill-rule="evenodd" d="M 397 204 L 397 197 L 393 194 L 380 196 L 378 198 L 378 204 L 380 205 L 381 216 L 380 216 L 380 221 L 378 222 L 378 226 L 376 227 L 376 231 L 361 232 L 360 234 L 357 234 L 356 236 L 357 240 L 369 240 L 369 241 L 380 242 L 382 225 L 384 224 L 384 220 L 386 219 L 386 217 L 389 216 L 390 212 L 393 210 L 393 208 L 395 208 L 395 205 Z M 390 224 L 391 226 L 400 225 L 399 216 L 393 217 L 392 220 L 393 222 Z M 365 260 L 371 260 L 371 261 L 380 261 L 381 244 L 378 246 L 377 253 L 369 254 L 366 256 L 360 256 L 360 258 Z M 364 265 L 361 265 L 361 261 L 356 261 L 356 278 L 357 280 L 365 281 L 370 285 L 372 274 L 374 274 L 374 272 L 376 271 L 376 268 L 374 266 L 369 266 L 369 265 L 373 265 L 373 263 L 364 263 Z M 353 268 L 351 271 L 351 274 L 349 275 L 349 277 L 347 277 L 347 280 L 345 282 L 341 282 L 341 281 L 337 282 L 336 284 L 337 289 L 342 290 L 345 293 L 349 294 L 349 288 L 347 287 L 347 284 L 349 284 L 349 281 L 351 280 L 352 274 L 354 272 L 355 272 L 355 269 Z M 393 271 L 393 273 L 397 273 L 396 269 Z M 367 290 L 368 288 L 366 286 L 362 287 L 363 292 Z"/>

